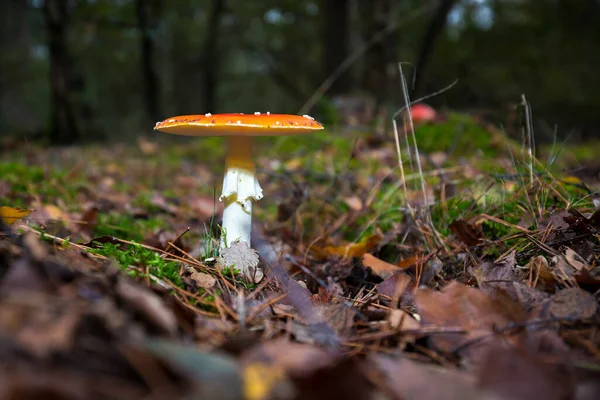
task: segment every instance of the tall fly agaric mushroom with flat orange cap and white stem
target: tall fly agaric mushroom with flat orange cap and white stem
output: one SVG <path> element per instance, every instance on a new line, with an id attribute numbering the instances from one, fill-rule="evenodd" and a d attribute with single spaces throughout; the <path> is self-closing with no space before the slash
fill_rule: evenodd
<path id="1" fill-rule="evenodd" d="M 263 197 L 252 158 L 254 136 L 288 136 L 311 133 L 323 125 L 308 115 L 286 114 L 204 114 L 182 115 L 158 122 L 154 130 L 185 136 L 227 137 L 227 158 L 223 191 L 224 201 L 221 248 L 236 241 L 250 247 L 252 202 Z"/>

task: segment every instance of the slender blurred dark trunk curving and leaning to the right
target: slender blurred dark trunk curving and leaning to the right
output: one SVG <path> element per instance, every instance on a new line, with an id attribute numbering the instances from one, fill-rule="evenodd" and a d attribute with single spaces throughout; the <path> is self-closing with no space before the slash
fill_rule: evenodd
<path id="1" fill-rule="evenodd" d="M 455 4 L 456 0 L 440 0 L 440 4 L 425 31 L 425 36 L 421 42 L 419 57 L 417 59 L 417 72 L 413 95 L 415 98 L 422 97 L 426 94 L 427 68 L 429 67 L 429 61 L 431 60 L 431 55 L 433 54 L 437 39 L 446 26 L 448 14 Z"/>

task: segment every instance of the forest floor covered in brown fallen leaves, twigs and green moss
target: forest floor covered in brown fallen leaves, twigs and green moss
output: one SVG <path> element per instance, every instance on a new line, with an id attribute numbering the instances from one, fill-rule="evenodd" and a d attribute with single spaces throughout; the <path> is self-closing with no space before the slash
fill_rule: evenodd
<path id="1" fill-rule="evenodd" d="M 258 284 L 217 267 L 221 139 L 5 142 L 0 398 L 600 398 L 598 146 L 416 142 L 257 140 Z"/>

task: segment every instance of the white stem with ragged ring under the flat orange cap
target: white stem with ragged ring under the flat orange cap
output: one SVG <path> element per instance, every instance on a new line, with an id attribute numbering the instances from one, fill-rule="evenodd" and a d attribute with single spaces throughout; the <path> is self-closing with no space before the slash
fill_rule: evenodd
<path id="1" fill-rule="evenodd" d="M 238 240 L 250 247 L 252 202 L 263 197 L 255 174 L 252 140 L 251 136 L 227 137 L 225 177 L 219 197 L 225 202 L 221 248 L 229 247 Z"/>

